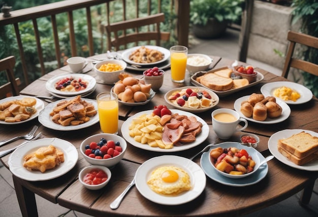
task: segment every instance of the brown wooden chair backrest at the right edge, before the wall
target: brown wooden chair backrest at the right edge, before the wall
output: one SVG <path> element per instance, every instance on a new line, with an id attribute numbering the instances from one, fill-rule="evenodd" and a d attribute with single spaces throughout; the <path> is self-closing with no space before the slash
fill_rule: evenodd
<path id="1" fill-rule="evenodd" d="M 290 41 L 290 45 L 281 76 L 287 78 L 291 67 L 318 76 L 318 65 L 293 57 L 296 44 L 318 49 L 318 38 L 300 32 L 289 31 L 287 39 Z"/>

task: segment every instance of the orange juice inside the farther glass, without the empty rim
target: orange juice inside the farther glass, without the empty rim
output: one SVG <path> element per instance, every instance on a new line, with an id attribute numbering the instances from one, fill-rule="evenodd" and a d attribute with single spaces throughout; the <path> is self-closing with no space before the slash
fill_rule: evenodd
<path id="1" fill-rule="evenodd" d="M 173 81 L 184 81 L 186 67 L 186 54 L 171 54 L 171 79 Z"/>

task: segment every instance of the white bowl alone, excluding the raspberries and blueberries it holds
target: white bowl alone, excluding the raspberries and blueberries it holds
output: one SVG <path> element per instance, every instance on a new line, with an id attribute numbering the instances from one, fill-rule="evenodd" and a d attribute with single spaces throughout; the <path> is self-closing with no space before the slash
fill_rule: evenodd
<path id="1" fill-rule="evenodd" d="M 105 138 L 107 141 L 108 140 L 113 140 L 114 142 L 119 141 L 122 152 L 119 155 L 112 157 L 112 158 L 108 158 L 108 159 L 96 159 L 96 158 L 91 158 L 91 157 L 85 155 L 86 144 L 89 144 L 92 141 L 98 143 L 101 140 L 101 138 Z M 88 163 L 90 163 L 92 165 L 106 166 L 108 168 L 113 167 L 117 163 L 119 163 L 119 161 L 123 158 L 123 156 L 126 152 L 126 149 L 127 149 L 126 141 L 122 137 L 115 135 L 115 134 L 110 134 L 110 133 L 100 133 L 100 134 L 89 136 L 88 138 L 86 138 L 82 141 L 81 146 L 80 146 L 80 152 L 83 155 L 84 159 Z"/>

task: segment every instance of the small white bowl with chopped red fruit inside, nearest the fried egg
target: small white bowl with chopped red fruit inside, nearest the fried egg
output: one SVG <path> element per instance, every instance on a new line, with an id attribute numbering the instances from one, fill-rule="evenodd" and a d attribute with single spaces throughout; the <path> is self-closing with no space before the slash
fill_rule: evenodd
<path id="1" fill-rule="evenodd" d="M 107 167 L 92 165 L 83 168 L 78 174 L 78 179 L 85 188 L 99 190 L 109 183 L 111 175 Z"/>

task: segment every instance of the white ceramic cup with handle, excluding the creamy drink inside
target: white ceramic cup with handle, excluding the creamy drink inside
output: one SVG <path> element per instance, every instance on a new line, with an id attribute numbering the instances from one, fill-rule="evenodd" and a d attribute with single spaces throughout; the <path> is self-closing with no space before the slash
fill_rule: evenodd
<path id="1" fill-rule="evenodd" d="M 221 113 L 230 114 L 234 118 L 233 120 L 227 120 L 227 122 L 216 120 L 215 115 Z M 238 128 L 238 124 L 240 122 L 244 122 L 245 124 L 243 127 Z M 228 108 L 219 108 L 212 112 L 212 127 L 220 139 L 228 139 L 235 132 L 244 130 L 247 127 L 247 121 L 244 118 L 240 118 L 240 115 L 234 110 Z"/>

